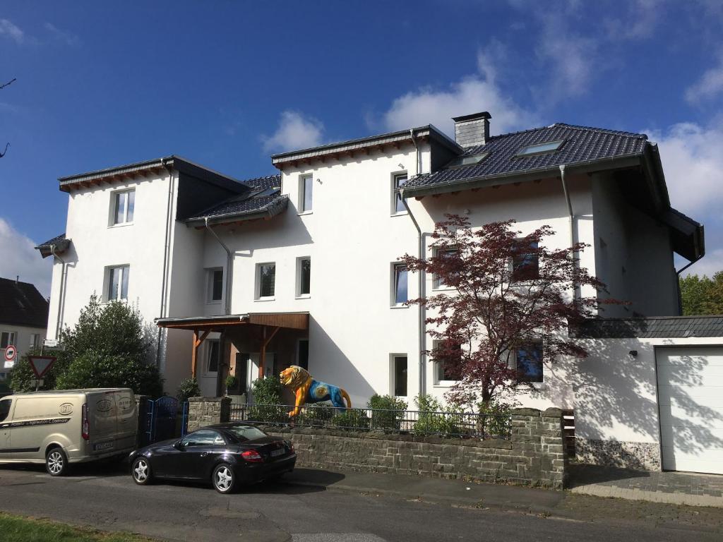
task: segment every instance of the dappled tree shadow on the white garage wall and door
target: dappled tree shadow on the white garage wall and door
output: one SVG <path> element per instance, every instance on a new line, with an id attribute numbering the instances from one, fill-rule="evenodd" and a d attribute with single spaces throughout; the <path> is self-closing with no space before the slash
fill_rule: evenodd
<path id="1" fill-rule="evenodd" d="M 659 409 L 657 400 L 656 353 L 653 345 L 634 339 L 585 339 L 589 356 L 570 371 L 570 384 L 576 395 L 576 436 L 584 439 L 646 444 L 650 454 L 659 454 Z M 668 341 L 674 346 L 672 340 Z M 638 350 L 631 356 L 630 350 Z M 708 363 L 702 356 L 681 356 L 681 363 L 670 373 L 676 387 L 674 407 L 688 416 L 673 416 L 670 405 L 660 406 L 665 421 L 680 421 L 676 441 L 691 452 L 704 447 L 723 447 L 723 435 L 711 431 L 711 420 L 723 417 L 699 405 L 685 387 L 701 384 L 701 370 Z M 628 457 L 630 459 L 630 457 Z M 631 468 L 646 468 L 627 463 Z"/>

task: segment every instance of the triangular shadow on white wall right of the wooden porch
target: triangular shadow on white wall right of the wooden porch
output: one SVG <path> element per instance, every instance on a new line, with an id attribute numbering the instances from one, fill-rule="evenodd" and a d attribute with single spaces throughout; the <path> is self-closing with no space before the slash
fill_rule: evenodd
<path id="1" fill-rule="evenodd" d="M 309 373 L 314 379 L 346 390 L 354 407 L 364 408 L 369 397 L 375 394 L 367 379 L 312 316 L 309 316 Z"/>

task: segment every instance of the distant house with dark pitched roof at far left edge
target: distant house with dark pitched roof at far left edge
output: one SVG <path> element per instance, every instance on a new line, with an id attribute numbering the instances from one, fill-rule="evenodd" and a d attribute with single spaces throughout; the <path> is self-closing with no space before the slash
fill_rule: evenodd
<path id="1" fill-rule="evenodd" d="M 0 380 L 10 376 L 5 348 L 17 348 L 15 362 L 27 350 L 40 348 L 46 338 L 48 300 L 30 283 L 0 278 Z"/>

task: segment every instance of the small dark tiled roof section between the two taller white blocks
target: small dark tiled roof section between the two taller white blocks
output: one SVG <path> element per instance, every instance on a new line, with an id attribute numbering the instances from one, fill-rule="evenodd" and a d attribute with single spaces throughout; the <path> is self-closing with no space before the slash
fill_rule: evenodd
<path id="1" fill-rule="evenodd" d="M 281 175 L 251 178 L 241 183 L 250 186 L 252 191 L 226 199 L 196 216 L 187 218 L 185 222 L 189 225 L 201 225 L 206 218 L 209 223 L 218 224 L 272 217 L 288 206 L 288 196 L 281 194 Z"/>

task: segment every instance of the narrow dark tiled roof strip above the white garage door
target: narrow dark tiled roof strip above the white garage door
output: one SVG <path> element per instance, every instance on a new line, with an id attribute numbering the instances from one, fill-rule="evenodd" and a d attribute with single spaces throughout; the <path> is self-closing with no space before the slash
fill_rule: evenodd
<path id="1" fill-rule="evenodd" d="M 575 335 L 590 339 L 723 337 L 723 316 L 591 319 Z"/>

